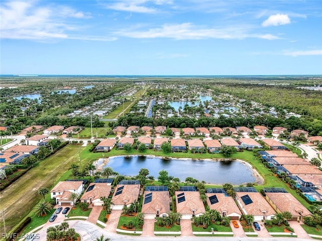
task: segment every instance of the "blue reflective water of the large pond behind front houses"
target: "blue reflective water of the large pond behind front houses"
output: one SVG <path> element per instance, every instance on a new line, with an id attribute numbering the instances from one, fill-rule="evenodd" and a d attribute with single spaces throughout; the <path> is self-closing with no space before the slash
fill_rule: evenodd
<path id="1" fill-rule="evenodd" d="M 201 154 L 195 154 L 196 157 Z M 98 164 L 100 165 L 100 163 Z M 213 184 L 233 185 L 255 182 L 250 165 L 238 160 L 216 161 L 194 159 L 164 159 L 154 156 L 112 156 L 105 167 L 125 176 L 136 176 L 141 168 L 147 168 L 155 179 L 160 170 L 167 170 L 170 176 L 184 181 L 187 177 Z"/>

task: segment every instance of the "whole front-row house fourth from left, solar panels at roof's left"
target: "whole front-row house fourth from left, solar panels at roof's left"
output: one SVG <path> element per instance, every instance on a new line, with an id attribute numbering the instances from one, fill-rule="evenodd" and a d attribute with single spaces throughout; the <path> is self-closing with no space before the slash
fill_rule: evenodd
<path id="1" fill-rule="evenodd" d="M 143 194 L 142 213 L 144 219 L 154 219 L 156 217 L 167 217 L 170 212 L 170 198 L 168 188 L 162 191 L 145 191 Z M 157 189 L 156 189 L 157 190 Z"/>

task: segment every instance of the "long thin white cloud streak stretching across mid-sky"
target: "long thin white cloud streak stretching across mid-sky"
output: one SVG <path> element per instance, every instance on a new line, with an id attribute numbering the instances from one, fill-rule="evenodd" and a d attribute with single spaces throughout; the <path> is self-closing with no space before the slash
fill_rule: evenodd
<path id="1" fill-rule="evenodd" d="M 250 26 L 236 26 L 222 29 L 204 28 L 196 26 L 191 23 L 183 24 L 165 24 L 159 28 L 151 28 L 148 30 L 130 30 L 123 29 L 114 34 L 118 36 L 130 38 L 173 38 L 177 40 L 182 39 L 245 39 L 245 38 L 262 38 L 262 39 L 279 39 L 277 36 L 271 34 L 250 34 L 248 31 Z"/>

